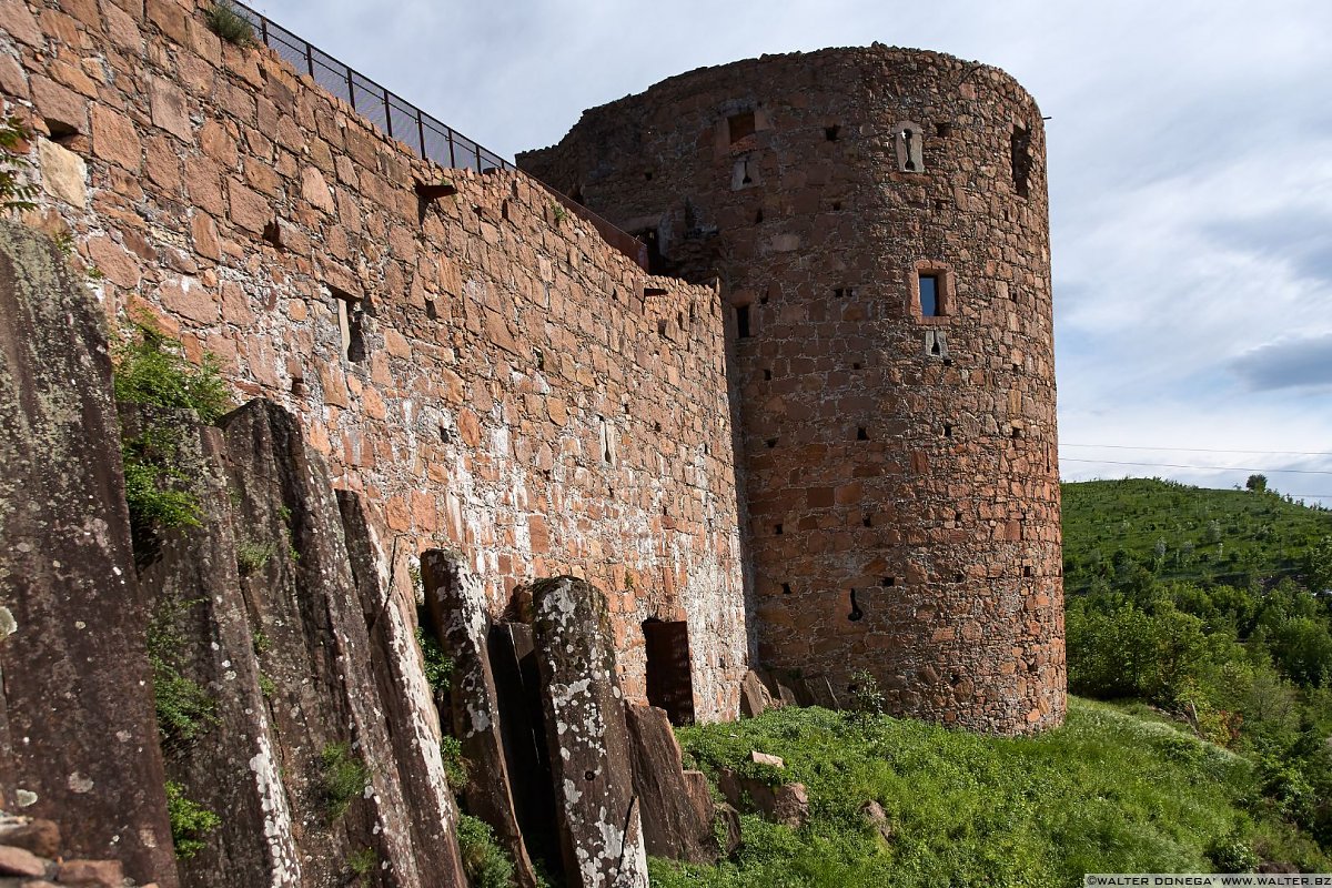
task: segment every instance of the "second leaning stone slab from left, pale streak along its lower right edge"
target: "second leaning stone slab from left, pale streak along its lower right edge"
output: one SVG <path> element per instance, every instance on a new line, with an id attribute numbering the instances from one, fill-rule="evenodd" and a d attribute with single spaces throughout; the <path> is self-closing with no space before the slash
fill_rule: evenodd
<path id="1" fill-rule="evenodd" d="M 127 435 L 161 411 L 121 406 Z M 257 643 L 241 591 L 244 547 L 248 574 L 268 576 L 285 555 L 269 549 L 257 529 L 237 523 L 226 474 L 226 445 L 217 429 L 192 414 L 174 414 L 181 429 L 177 461 L 190 479 L 200 527 L 160 534 L 155 556 L 140 574 L 159 631 L 182 643 L 166 652 L 172 668 L 196 682 L 212 702 L 212 724 L 190 742 L 165 746 L 168 776 L 186 797 L 222 816 L 204 848 L 178 861 L 182 885 L 228 881 L 302 885 L 297 824 L 280 776 L 280 743 L 260 687 L 268 642 Z M 265 638 L 262 634 L 260 638 Z"/>

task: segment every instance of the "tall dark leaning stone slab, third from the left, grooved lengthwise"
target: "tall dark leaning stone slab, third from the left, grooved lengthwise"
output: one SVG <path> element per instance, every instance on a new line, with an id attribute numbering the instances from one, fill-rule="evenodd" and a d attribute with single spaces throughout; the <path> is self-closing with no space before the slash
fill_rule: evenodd
<path id="1" fill-rule="evenodd" d="M 338 884 L 364 848 L 394 884 L 421 885 L 404 827 L 405 804 L 370 671 L 370 643 L 328 469 L 305 443 L 296 417 L 254 401 L 221 421 L 236 523 L 272 549 L 241 578 L 252 631 L 268 650 L 258 662 L 274 691 L 268 702 L 273 752 L 301 856 L 301 884 Z M 345 750 L 365 767 L 364 793 L 338 816 L 322 777 L 324 755 Z"/>

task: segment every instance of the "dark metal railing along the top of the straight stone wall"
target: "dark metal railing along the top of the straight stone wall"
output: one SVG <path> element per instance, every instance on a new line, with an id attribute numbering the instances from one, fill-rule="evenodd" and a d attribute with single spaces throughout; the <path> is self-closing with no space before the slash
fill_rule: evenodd
<path id="1" fill-rule="evenodd" d="M 302 40 L 286 28 L 242 3 L 233 3 L 236 12 L 250 23 L 254 36 L 296 71 L 308 73 L 314 83 L 349 104 L 356 113 L 396 138 L 417 156 L 440 166 L 472 169 L 485 173 L 492 169 L 519 170 L 500 154 L 468 138 L 452 126 L 436 120 L 401 96 L 389 92 L 333 56 Z M 523 173 L 527 176 L 527 173 Z M 527 176 L 554 197 L 569 212 L 587 220 L 607 244 L 647 269 L 647 246 L 621 230 L 597 213 L 561 194 L 538 178 Z"/>

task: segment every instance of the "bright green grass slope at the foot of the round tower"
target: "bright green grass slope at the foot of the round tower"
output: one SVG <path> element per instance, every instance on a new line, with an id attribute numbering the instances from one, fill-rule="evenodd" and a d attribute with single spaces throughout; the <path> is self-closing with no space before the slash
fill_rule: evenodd
<path id="1" fill-rule="evenodd" d="M 681 743 L 711 777 L 751 750 L 782 756 L 811 817 L 793 831 L 746 815 L 733 860 L 653 860 L 654 887 L 1074 885 L 1084 872 L 1211 871 L 1209 851 L 1233 860 L 1255 845 L 1328 865 L 1311 841 L 1249 812 L 1248 759 L 1080 699 L 1067 726 L 1024 739 L 786 708 L 685 728 Z M 891 841 L 862 817 L 870 800 Z"/>

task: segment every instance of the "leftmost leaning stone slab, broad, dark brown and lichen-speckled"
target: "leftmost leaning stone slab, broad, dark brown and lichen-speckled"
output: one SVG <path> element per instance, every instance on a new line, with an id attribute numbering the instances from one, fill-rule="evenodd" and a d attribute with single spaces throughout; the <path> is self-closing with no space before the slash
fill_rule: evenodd
<path id="1" fill-rule="evenodd" d="M 73 853 L 173 887 L 119 451 L 101 309 L 49 241 L 0 222 L 0 796 L 77 812 Z"/>

